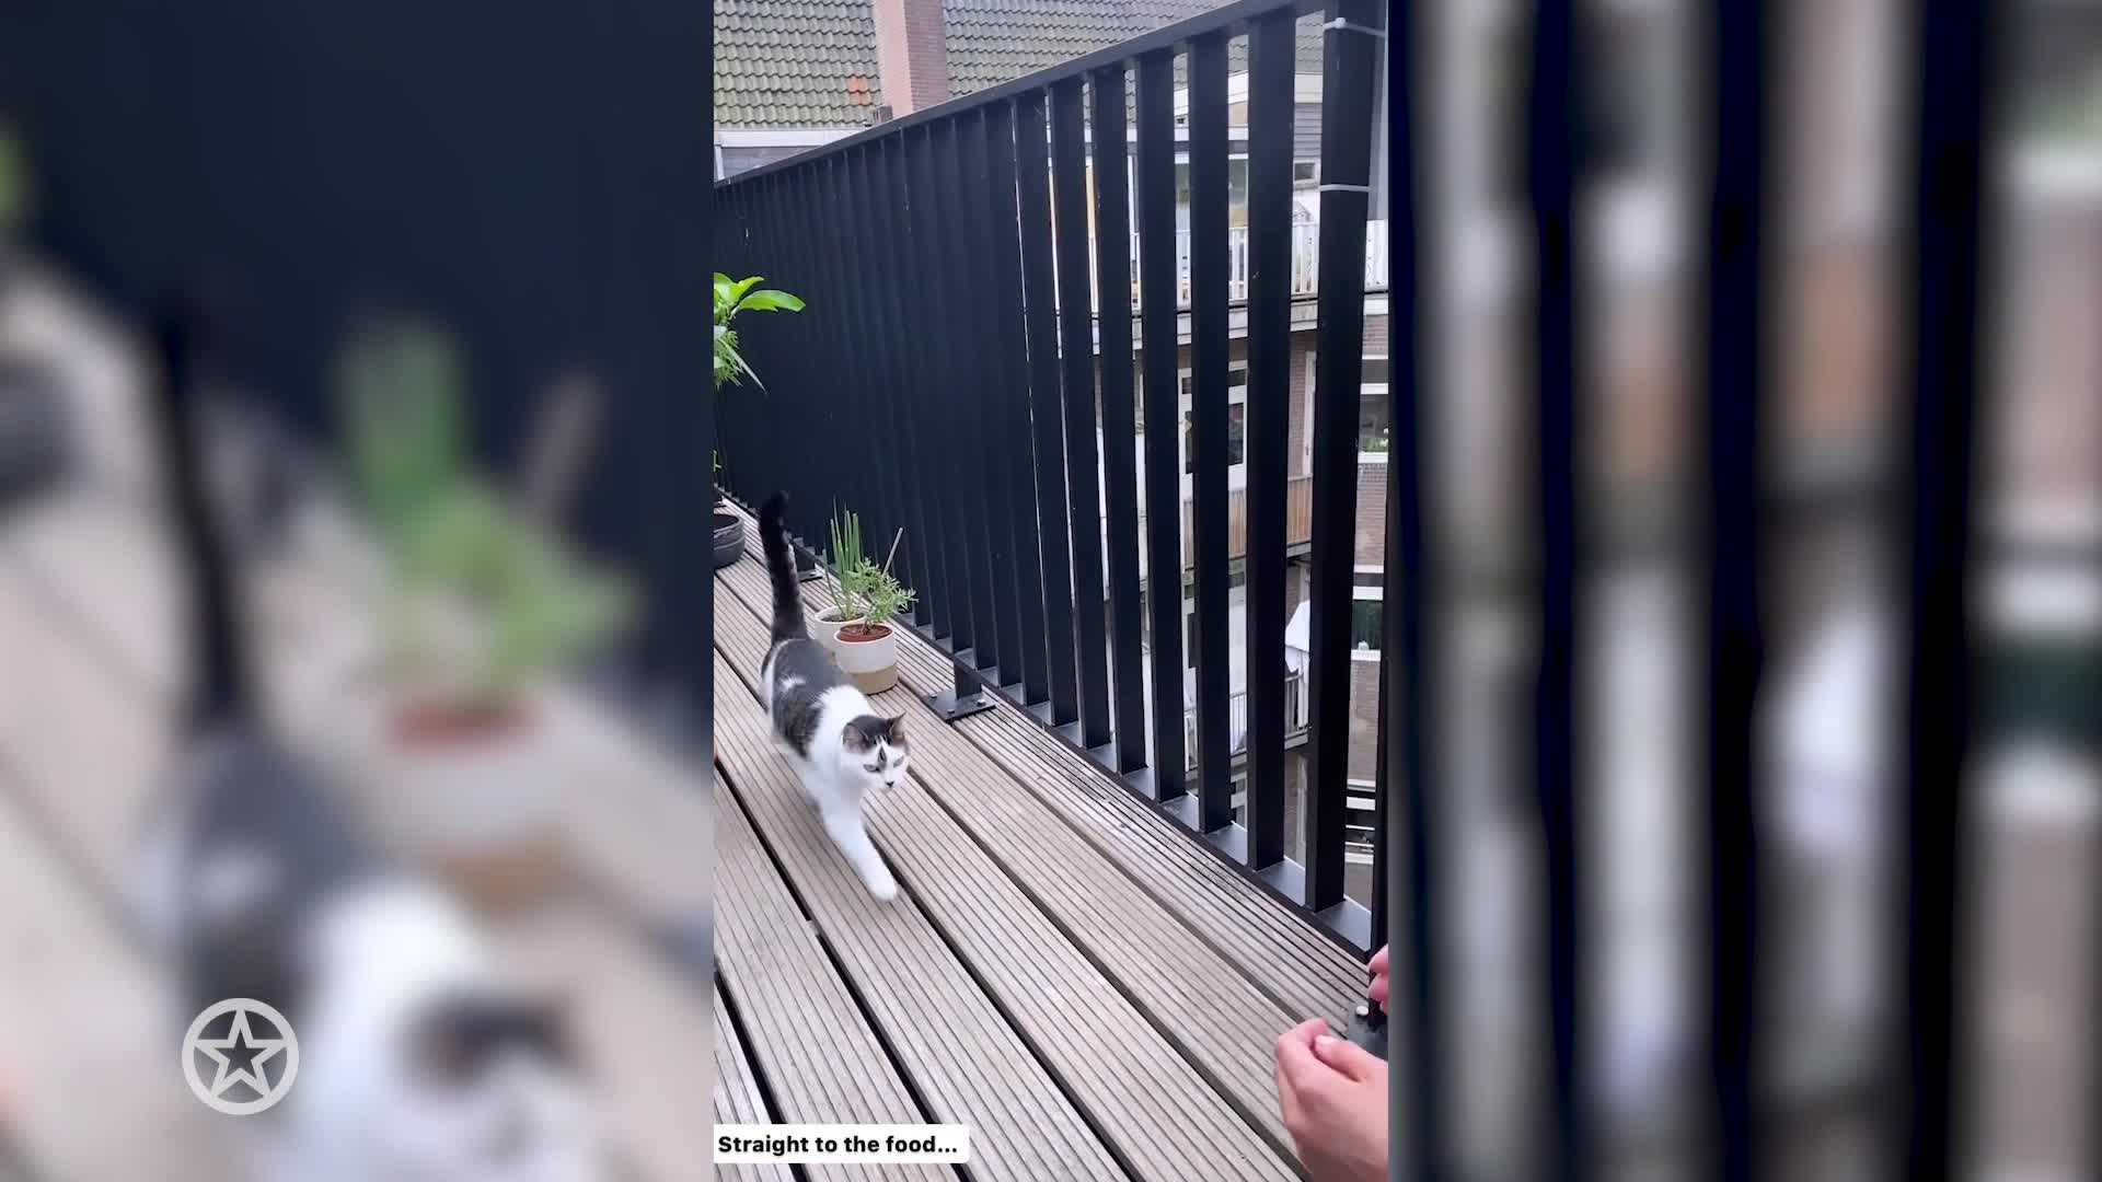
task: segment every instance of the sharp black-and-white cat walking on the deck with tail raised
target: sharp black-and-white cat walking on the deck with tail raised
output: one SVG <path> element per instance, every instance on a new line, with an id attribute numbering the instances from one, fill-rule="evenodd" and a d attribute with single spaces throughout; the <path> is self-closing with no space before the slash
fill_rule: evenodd
<path id="1" fill-rule="evenodd" d="M 774 585 L 774 641 L 759 667 L 759 705 L 774 728 L 774 747 L 803 780 L 803 793 L 824 831 L 845 854 L 879 902 L 898 898 L 898 881 L 868 839 L 862 801 L 870 791 L 898 787 L 912 763 L 906 719 L 885 717 L 847 681 L 832 654 L 809 637 L 795 557 L 782 513 L 788 494 L 776 492 L 759 509 L 759 545 Z"/>

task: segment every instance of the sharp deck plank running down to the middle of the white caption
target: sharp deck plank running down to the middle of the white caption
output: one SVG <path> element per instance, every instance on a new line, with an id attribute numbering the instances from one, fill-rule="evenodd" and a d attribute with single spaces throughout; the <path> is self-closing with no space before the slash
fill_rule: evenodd
<path id="1" fill-rule="evenodd" d="M 725 793 L 727 789 L 719 791 Z M 715 961 L 782 1123 L 916 1125 L 900 1079 L 744 814 L 717 816 Z M 807 1165 L 811 1178 L 952 1178 L 935 1165 Z"/>

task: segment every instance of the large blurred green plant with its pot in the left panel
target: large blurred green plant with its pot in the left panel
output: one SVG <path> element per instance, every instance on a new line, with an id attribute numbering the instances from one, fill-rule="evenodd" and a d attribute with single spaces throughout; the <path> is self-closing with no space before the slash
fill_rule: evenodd
<path id="1" fill-rule="evenodd" d="M 586 570 L 467 463 L 456 366 L 401 332 L 347 370 L 351 467 L 385 562 L 380 665 L 357 755 L 383 829 L 481 902 L 563 871 L 544 688 L 620 627 Z"/>

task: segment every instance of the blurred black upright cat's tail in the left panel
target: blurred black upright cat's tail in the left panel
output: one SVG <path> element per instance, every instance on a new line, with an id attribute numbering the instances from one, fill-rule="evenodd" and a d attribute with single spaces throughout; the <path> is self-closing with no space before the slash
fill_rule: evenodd
<path id="1" fill-rule="evenodd" d="M 240 721 L 250 713 L 246 654 L 240 644 L 240 604 L 231 557 L 212 524 L 212 509 L 198 456 L 195 318 L 160 326 L 158 440 L 162 471 L 174 509 L 174 551 L 189 585 L 191 688 L 189 730 Z"/>

